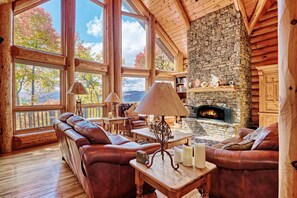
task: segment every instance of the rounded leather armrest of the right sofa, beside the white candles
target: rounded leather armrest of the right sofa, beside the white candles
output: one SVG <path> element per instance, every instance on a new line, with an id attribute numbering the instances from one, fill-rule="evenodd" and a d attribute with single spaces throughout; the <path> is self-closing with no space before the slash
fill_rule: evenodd
<path id="1" fill-rule="evenodd" d="M 278 169 L 278 151 L 271 150 L 231 151 L 207 147 L 206 160 L 225 169 Z"/>

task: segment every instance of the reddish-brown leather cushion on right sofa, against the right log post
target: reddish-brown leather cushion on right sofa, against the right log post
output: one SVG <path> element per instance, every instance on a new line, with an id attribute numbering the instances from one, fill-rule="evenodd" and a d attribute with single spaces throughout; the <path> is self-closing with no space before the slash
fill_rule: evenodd
<path id="1" fill-rule="evenodd" d="M 252 150 L 278 150 L 278 123 L 265 127 L 255 140 Z"/>

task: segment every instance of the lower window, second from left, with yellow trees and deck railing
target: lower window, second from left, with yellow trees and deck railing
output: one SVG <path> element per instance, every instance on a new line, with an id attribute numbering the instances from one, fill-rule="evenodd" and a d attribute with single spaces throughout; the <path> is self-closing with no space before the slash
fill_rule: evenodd
<path id="1" fill-rule="evenodd" d="M 88 95 L 77 96 L 81 97 L 84 117 L 102 117 L 102 75 L 86 72 L 76 72 L 75 80 L 81 82 L 88 91 Z"/>

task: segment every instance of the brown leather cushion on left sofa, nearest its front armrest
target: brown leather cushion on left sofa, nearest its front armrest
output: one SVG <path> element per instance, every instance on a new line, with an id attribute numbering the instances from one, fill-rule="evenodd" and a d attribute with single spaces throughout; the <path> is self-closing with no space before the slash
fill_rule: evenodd
<path id="1" fill-rule="evenodd" d="M 85 136 L 91 144 L 111 144 L 105 130 L 87 120 L 76 123 L 74 129 Z"/>

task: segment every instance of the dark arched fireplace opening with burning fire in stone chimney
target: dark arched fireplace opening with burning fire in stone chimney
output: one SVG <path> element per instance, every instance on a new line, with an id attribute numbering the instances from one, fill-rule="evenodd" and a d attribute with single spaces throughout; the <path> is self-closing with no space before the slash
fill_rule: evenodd
<path id="1" fill-rule="evenodd" d="M 192 118 L 214 119 L 232 124 L 232 110 L 229 108 L 214 105 L 188 106 L 188 108 Z"/>

